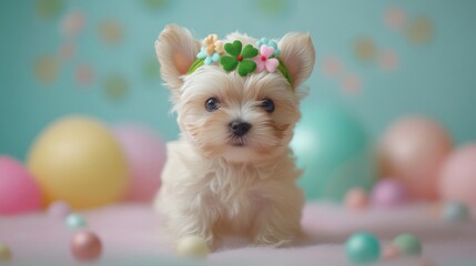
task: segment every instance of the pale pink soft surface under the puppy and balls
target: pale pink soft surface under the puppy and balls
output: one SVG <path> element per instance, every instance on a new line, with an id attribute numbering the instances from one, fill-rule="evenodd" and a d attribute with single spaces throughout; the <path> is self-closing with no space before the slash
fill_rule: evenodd
<path id="1" fill-rule="evenodd" d="M 437 218 L 437 209 L 436 205 L 412 205 L 351 212 L 313 203 L 303 217 L 308 239 L 273 249 L 227 238 L 224 247 L 204 262 L 175 258 L 148 205 L 117 205 L 83 215 L 89 229 L 103 242 L 98 265 L 351 265 L 343 244 L 362 229 L 376 234 L 383 247 L 402 233 L 415 234 L 423 242 L 422 258 L 397 258 L 378 265 L 421 265 L 423 259 L 436 265 L 476 265 L 476 222 L 448 224 Z M 74 265 L 69 249 L 72 234 L 62 219 L 45 213 L 0 217 L 0 242 L 13 253 L 10 265 Z"/>

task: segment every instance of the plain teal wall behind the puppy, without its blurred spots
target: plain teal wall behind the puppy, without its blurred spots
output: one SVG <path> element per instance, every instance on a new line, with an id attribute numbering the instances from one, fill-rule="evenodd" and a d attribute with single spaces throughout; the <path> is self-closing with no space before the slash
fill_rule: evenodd
<path id="1" fill-rule="evenodd" d="M 48 7 L 49 16 L 39 14 Z M 391 29 L 384 18 L 392 7 L 404 11 L 405 27 L 414 18 L 427 18 L 432 38 L 415 44 L 405 27 Z M 81 12 L 85 24 L 78 34 L 67 37 L 60 25 L 71 11 Z M 209 33 L 223 37 L 234 30 L 257 38 L 307 31 L 317 61 L 306 82 L 311 93 L 304 105 L 344 105 L 362 119 L 374 140 L 394 119 L 422 113 L 440 121 L 457 143 L 474 141 L 475 13 L 476 2 L 464 0 L 1 1 L 0 154 L 24 158 L 42 129 L 71 113 L 90 114 L 109 124 L 135 121 L 156 129 L 164 140 L 175 139 L 178 127 L 169 114 L 169 92 L 161 86 L 153 50 L 156 35 L 169 23 L 190 28 L 198 38 Z M 108 20 L 123 29 L 118 43 L 108 44 L 100 38 L 100 24 Z M 359 60 L 353 47 L 362 37 L 369 38 L 378 51 L 394 51 L 398 65 L 385 71 L 376 59 Z M 64 43 L 73 43 L 77 52 L 60 60 L 51 82 L 42 82 L 34 62 L 45 54 L 58 59 Z M 345 65 L 337 78 L 325 74 L 323 65 L 328 58 Z M 93 71 L 87 85 L 75 80 L 81 64 Z M 362 82 L 355 93 L 342 88 L 350 74 Z M 113 76 L 120 76 L 120 82 L 112 86 L 125 92 L 119 96 L 111 96 L 105 89 Z M 312 116 L 312 112 L 304 115 Z"/>

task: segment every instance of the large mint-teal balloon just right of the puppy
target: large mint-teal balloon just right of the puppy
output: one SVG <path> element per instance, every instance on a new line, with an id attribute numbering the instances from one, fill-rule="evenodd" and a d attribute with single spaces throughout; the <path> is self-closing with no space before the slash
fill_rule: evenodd
<path id="1" fill-rule="evenodd" d="M 350 111 L 331 105 L 303 108 L 291 146 L 303 168 L 307 200 L 343 201 L 348 190 L 368 190 L 376 175 L 365 127 Z"/>

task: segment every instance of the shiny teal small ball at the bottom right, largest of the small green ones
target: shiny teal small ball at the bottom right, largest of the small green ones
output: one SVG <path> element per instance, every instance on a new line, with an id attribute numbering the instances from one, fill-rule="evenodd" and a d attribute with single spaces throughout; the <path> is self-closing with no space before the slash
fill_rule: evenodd
<path id="1" fill-rule="evenodd" d="M 374 235 L 361 232 L 347 239 L 345 253 L 353 263 L 372 263 L 381 256 L 381 245 Z"/>

